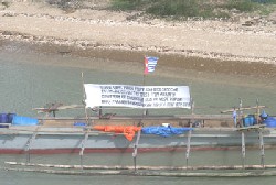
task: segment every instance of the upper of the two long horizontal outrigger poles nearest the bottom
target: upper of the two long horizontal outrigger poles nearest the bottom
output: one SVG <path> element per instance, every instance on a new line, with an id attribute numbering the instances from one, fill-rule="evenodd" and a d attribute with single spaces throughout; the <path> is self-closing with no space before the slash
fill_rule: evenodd
<path id="1" fill-rule="evenodd" d="M 19 162 L 4 162 L 4 164 L 10 166 L 29 166 L 29 167 L 49 167 L 49 168 L 73 168 L 73 170 L 134 170 L 131 166 L 121 165 L 62 165 L 62 164 L 39 164 L 39 163 L 19 163 Z M 199 170 L 276 170 L 276 165 L 210 165 L 210 166 L 136 166 L 137 170 L 150 170 L 150 171 L 199 171 Z"/>

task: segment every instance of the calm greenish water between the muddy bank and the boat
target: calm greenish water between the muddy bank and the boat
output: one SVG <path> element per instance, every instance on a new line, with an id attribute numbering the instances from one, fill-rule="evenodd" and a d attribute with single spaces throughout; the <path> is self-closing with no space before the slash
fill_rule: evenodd
<path id="1" fill-rule="evenodd" d="M 189 85 L 195 101 L 195 113 L 220 113 L 223 109 L 255 106 L 256 99 L 276 112 L 275 78 L 205 74 L 184 69 L 168 70 L 158 66 L 146 77 L 146 85 Z M 81 74 L 84 73 L 84 79 Z M 82 104 L 83 80 L 91 84 L 142 84 L 142 64 L 98 58 L 78 58 L 22 52 L 0 52 L 0 111 L 36 116 L 32 108 L 49 102 Z M 210 108 L 211 106 L 211 108 Z M 202 108 L 205 107 L 205 108 Z M 172 110 L 151 110 L 152 113 Z M 124 110 L 124 112 L 126 112 Z M 82 115 L 83 111 L 62 111 L 60 116 Z M 176 113 L 190 113 L 177 110 Z M 250 112 L 252 113 L 252 112 Z"/>

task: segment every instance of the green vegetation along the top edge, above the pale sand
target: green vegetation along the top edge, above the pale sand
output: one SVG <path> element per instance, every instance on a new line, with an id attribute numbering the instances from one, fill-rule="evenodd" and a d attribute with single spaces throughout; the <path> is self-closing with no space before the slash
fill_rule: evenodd
<path id="1" fill-rule="evenodd" d="M 152 15 L 176 19 L 229 18 L 233 10 L 240 13 L 268 14 L 272 4 L 276 4 L 276 0 L 112 0 L 114 10 L 140 10 Z"/>

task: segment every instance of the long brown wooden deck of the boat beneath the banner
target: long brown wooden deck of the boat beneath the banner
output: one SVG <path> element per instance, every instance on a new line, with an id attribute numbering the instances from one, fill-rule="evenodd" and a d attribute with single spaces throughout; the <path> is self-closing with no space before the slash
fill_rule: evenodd
<path id="1" fill-rule="evenodd" d="M 233 128 L 230 115 L 187 115 L 187 116 L 113 116 L 110 118 L 40 118 L 44 127 L 74 127 L 75 123 L 113 124 L 113 126 L 161 126 L 170 123 L 173 127 L 189 127 L 191 122 L 208 128 Z"/>

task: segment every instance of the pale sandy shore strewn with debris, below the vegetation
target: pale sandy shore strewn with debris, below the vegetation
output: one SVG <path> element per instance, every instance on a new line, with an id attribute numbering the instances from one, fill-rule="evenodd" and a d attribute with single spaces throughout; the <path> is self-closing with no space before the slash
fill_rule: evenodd
<path id="1" fill-rule="evenodd" d="M 139 12 L 82 9 L 66 13 L 46 3 L 14 2 L 1 9 L 2 48 L 7 42 L 20 42 L 34 45 L 33 50 L 92 57 L 113 55 L 114 59 L 119 59 L 121 53 L 126 55 L 125 59 L 132 61 L 140 58 L 141 54 L 156 54 L 164 58 L 163 63 L 166 58 L 174 61 L 166 64 L 168 66 L 183 66 L 181 63 L 189 64 L 187 58 L 190 57 L 205 58 L 208 65 L 192 59 L 191 69 L 198 66 L 215 72 L 223 65 L 229 67 L 223 70 L 236 74 L 242 70 L 236 64 L 250 62 L 252 73 L 259 73 L 263 68 L 274 76 L 276 70 L 276 17 L 269 20 L 235 18 L 233 21 L 166 22 L 145 19 Z M 254 24 L 243 25 L 246 21 L 254 21 Z M 222 64 L 230 61 L 231 64 Z"/>

